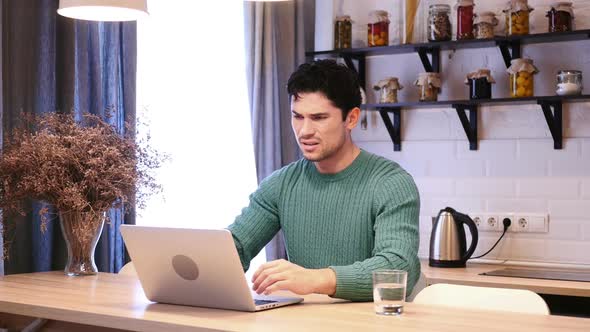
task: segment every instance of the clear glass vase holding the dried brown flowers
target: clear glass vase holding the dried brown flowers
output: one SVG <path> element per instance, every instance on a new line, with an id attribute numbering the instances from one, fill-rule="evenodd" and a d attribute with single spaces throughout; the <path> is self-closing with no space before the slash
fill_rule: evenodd
<path id="1" fill-rule="evenodd" d="M 64 272 L 69 276 L 98 273 L 94 263 L 94 249 L 102 232 L 105 213 L 82 211 L 60 212 L 61 231 L 68 249 Z"/>

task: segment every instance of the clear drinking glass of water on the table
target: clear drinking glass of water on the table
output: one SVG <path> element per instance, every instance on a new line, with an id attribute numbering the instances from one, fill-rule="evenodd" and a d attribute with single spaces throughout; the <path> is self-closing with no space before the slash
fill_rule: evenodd
<path id="1" fill-rule="evenodd" d="M 381 270 L 373 272 L 373 302 L 379 315 L 399 315 L 404 311 L 408 272 Z"/>

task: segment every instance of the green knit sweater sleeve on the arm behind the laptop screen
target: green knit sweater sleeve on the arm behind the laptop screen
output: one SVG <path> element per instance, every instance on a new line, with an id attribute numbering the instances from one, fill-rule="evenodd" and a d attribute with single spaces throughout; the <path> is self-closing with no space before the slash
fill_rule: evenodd
<path id="1" fill-rule="evenodd" d="M 248 206 L 228 226 L 244 271 L 248 270 L 250 261 L 279 231 L 280 183 L 280 171 L 264 179 L 250 195 Z"/>

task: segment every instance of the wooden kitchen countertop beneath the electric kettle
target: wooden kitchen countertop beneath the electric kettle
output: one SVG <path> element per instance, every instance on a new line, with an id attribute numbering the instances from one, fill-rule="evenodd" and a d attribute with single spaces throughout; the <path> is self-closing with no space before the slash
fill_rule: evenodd
<path id="1" fill-rule="evenodd" d="M 467 263 L 465 268 L 440 268 L 428 266 L 428 261 L 422 261 L 422 273 L 426 277 L 426 284 L 448 283 L 472 286 L 487 286 L 500 288 L 528 289 L 535 293 L 590 297 L 590 282 L 561 281 L 531 278 L 512 278 L 480 275 L 506 267 L 517 267 L 498 264 Z M 518 268 L 524 268 L 518 266 Z M 538 268 L 535 268 L 538 269 Z M 588 270 L 590 273 L 590 269 Z M 590 331 L 590 327 L 588 329 Z"/>

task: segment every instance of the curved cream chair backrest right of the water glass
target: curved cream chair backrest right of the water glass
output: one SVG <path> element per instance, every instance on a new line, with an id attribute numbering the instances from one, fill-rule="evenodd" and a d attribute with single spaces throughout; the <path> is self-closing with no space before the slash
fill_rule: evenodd
<path id="1" fill-rule="evenodd" d="M 524 289 L 434 284 L 418 293 L 414 303 L 549 315 L 545 300 Z"/>

